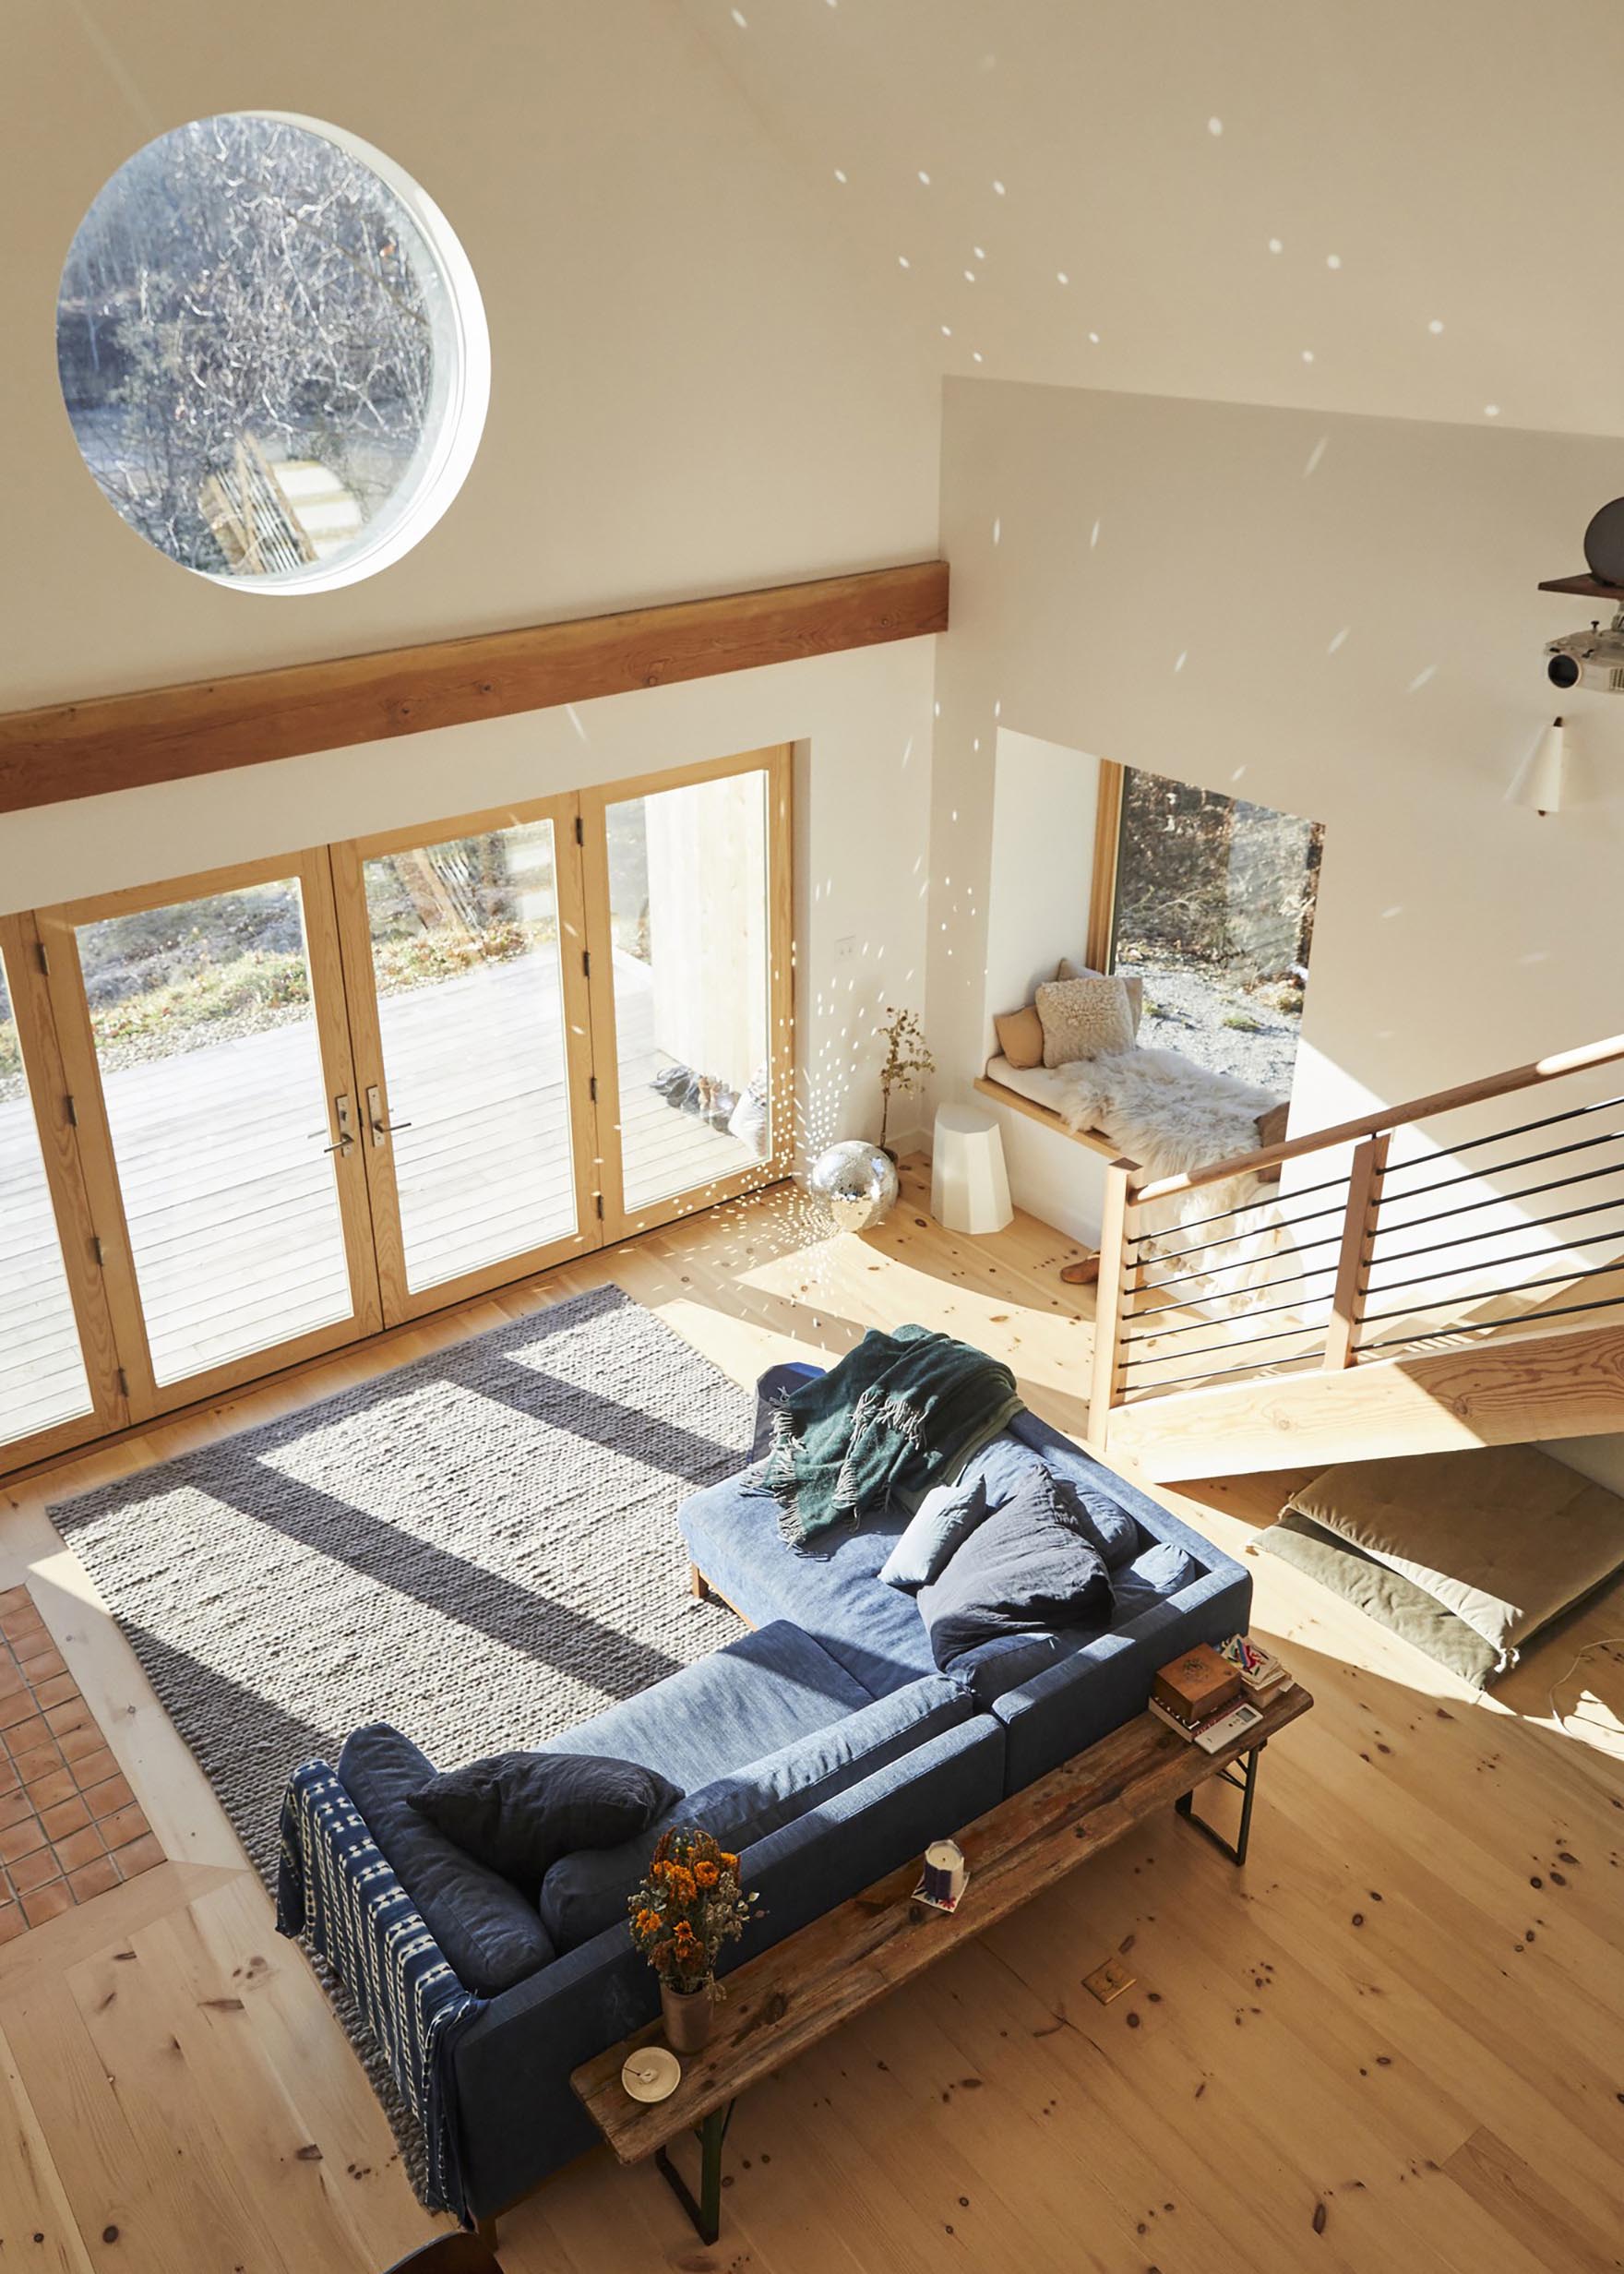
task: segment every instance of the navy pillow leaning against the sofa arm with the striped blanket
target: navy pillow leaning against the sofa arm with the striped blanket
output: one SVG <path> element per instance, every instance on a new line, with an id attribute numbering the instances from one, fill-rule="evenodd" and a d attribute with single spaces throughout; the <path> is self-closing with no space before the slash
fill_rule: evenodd
<path id="1" fill-rule="evenodd" d="M 339 1783 L 366 1831 L 412 1897 L 450 1972 L 475 1997 L 496 1997 L 539 1974 L 557 1956 L 553 1937 L 519 1887 L 437 1831 L 409 1794 L 434 1762 L 387 1721 L 368 1721 L 343 1742 Z"/>

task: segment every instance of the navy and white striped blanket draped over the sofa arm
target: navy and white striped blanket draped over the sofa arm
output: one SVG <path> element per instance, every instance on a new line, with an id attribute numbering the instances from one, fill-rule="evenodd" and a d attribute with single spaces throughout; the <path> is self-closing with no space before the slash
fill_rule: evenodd
<path id="1" fill-rule="evenodd" d="M 325 1960 L 355 1999 L 423 2131 L 428 2208 L 466 2226 L 450 2049 L 484 1999 L 450 1972 L 325 1760 L 296 1769 L 282 1796 L 275 1924 Z"/>

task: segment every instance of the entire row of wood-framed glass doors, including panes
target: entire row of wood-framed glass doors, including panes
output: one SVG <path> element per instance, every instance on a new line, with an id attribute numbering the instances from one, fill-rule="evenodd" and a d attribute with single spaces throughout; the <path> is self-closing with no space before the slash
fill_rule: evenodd
<path id="1" fill-rule="evenodd" d="M 0 1471 L 785 1176 L 789 753 L 0 919 Z"/>

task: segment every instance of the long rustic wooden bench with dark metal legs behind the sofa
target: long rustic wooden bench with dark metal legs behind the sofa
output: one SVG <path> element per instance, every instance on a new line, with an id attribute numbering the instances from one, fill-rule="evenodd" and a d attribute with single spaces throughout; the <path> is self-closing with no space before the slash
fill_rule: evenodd
<path id="1" fill-rule="evenodd" d="M 1292 1683 L 1224 1753 L 1203 1753 L 1155 1715 L 1140 1715 L 955 1835 L 971 1874 L 955 1912 L 912 1901 L 919 1865 L 910 1862 L 737 1967 L 728 1976 L 714 2038 L 703 2051 L 682 2056 L 682 2081 L 669 2099 L 635 2101 L 621 2083 L 628 2053 L 660 2042 L 657 2022 L 582 2063 L 571 2076 L 575 2094 L 621 2163 L 655 2158 L 701 2238 L 714 2242 L 721 2231 L 721 2144 L 746 2085 L 771 2076 L 898 1983 L 923 1974 L 1158 1808 L 1178 1808 L 1231 1862 L 1242 1865 L 1258 1756 L 1310 1706 L 1310 1694 Z M 1210 1781 L 1242 1794 L 1233 1842 L 1194 1815 L 1194 1794 Z M 698 2201 L 666 2153 L 685 2131 L 698 2133 L 701 2142 Z"/>

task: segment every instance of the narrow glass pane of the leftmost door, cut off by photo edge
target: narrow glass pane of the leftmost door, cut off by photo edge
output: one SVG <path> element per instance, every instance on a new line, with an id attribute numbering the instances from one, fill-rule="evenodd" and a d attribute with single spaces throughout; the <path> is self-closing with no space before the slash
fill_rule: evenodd
<path id="1" fill-rule="evenodd" d="M 0 960 L 0 1444 L 93 1410 Z"/>

